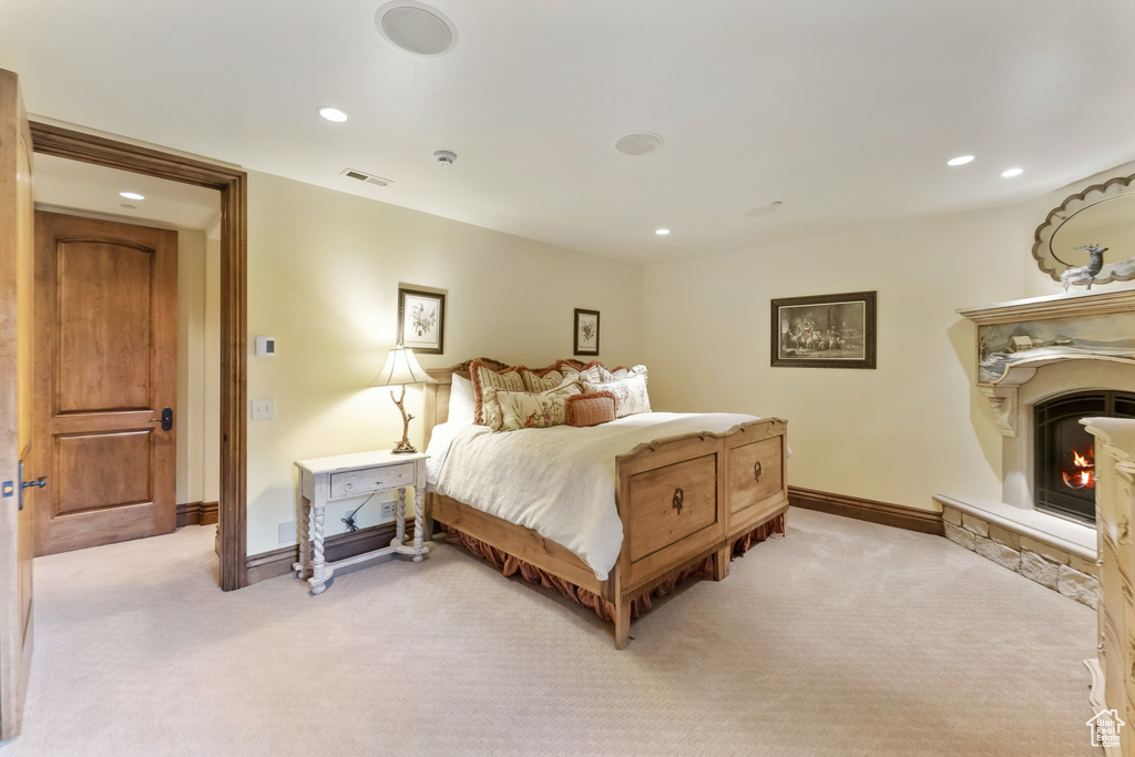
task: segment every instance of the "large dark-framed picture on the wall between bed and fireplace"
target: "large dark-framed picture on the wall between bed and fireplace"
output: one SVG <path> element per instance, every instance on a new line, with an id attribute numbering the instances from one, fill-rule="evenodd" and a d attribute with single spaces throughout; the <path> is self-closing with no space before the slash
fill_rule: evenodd
<path id="1" fill-rule="evenodd" d="M 875 368 L 875 293 L 772 301 L 772 364 Z"/>

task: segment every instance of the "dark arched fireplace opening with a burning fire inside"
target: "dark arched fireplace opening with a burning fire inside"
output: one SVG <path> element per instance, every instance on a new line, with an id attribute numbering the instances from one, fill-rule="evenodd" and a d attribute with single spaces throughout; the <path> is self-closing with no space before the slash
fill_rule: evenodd
<path id="1" fill-rule="evenodd" d="M 1135 394 L 1077 392 L 1036 405 L 1036 508 L 1094 524 L 1095 446 L 1082 418 L 1135 418 Z"/>

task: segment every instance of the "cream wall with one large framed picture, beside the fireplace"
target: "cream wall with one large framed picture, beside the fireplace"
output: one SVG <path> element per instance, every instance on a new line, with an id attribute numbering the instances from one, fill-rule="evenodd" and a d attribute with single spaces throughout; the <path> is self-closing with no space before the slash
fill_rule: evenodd
<path id="1" fill-rule="evenodd" d="M 999 501 L 1002 437 L 974 388 L 974 327 L 955 311 L 1060 292 L 1032 259 L 1033 234 L 1092 180 L 1007 208 L 648 267 L 653 403 L 787 419 L 792 486 L 924 510 L 938 493 Z M 865 289 L 878 292 L 876 370 L 770 367 L 770 300 Z"/>

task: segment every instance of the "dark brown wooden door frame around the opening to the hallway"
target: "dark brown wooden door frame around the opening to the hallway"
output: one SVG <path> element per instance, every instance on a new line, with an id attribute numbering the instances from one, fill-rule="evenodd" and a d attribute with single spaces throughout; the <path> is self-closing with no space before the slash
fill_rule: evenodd
<path id="1" fill-rule="evenodd" d="M 218 582 L 247 586 L 247 175 L 227 166 L 30 120 L 35 152 L 220 192 Z M 34 180 L 34 167 L 33 167 Z"/>

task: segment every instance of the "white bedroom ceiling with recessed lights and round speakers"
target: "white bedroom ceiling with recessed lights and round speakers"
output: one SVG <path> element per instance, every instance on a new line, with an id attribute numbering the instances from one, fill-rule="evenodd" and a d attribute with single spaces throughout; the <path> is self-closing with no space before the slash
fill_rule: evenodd
<path id="1" fill-rule="evenodd" d="M 41 117 L 636 262 L 1135 160 L 1132 0 L 436 0 L 435 58 L 378 33 L 384 1 L 5 0 L 0 67 Z M 642 131 L 663 149 L 614 150 Z"/>

